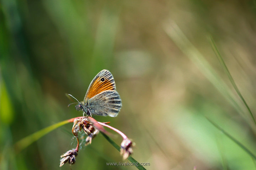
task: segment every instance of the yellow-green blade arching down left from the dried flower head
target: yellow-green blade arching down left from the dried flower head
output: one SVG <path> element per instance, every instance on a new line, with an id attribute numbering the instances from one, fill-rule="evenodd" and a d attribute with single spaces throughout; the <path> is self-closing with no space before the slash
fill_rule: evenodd
<path id="1" fill-rule="evenodd" d="M 20 152 L 29 145 L 31 145 L 33 142 L 37 141 L 39 138 L 43 137 L 44 135 L 48 134 L 49 132 L 53 131 L 54 129 L 59 128 L 60 126 L 63 126 L 67 123 L 70 123 L 69 120 L 64 120 L 59 123 L 56 123 L 54 125 L 48 126 L 47 128 L 44 128 L 42 130 L 39 130 L 23 139 L 20 141 L 16 142 L 14 145 L 14 148 L 16 149 L 16 152 Z"/>

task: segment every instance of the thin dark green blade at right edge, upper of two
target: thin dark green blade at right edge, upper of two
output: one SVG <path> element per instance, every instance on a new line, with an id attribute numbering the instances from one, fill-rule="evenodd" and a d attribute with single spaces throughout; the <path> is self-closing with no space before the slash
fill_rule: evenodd
<path id="1" fill-rule="evenodd" d="M 255 121 L 255 118 L 254 118 L 254 116 L 253 116 L 253 114 L 252 114 L 252 112 L 251 112 L 251 109 L 249 108 L 249 106 L 248 106 L 248 104 L 246 103 L 244 97 L 242 96 L 242 94 L 240 93 L 238 87 L 236 86 L 235 81 L 234 81 L 233 77 L 231 76 L 231 74 L 230 74 L 230 72 L 229 72 L 229 69 L 228 69 L 228 67 L 226 66 L 226 64 L 225 64 L 225 62 L 224 62 L 222 56 L 220 55 L 220 52 L 219 52 L 219 50 L 217 49 L 217 46 L 216 46 L 216 44 L 215 44 L 215 42 L 214 42 L 212 36 L 210 37 L 210 39 L 211 39 L 211 42 L 212 42 L 213 51 L 215 52 L 216 56 L 218 57 L 219 62 L 222 64 L 222 67 L 224 68 L 226 74 L 228 75 L 228 78 L 229 78 L 231 84 L 233 85 L 233 87 L 234 87 L 236 93 L 237 93 L 238 96 L 241 98 L 242 102 L 245 104 L 245 107 L 247 108 L 248 112 L 250 113 L 250 115 L 251 115 L 251 117 L 252 117 L 252 119 L 253 119 L 253 121 L 254 121 L 254 124 L 256 125 L 256 121 Z"/>

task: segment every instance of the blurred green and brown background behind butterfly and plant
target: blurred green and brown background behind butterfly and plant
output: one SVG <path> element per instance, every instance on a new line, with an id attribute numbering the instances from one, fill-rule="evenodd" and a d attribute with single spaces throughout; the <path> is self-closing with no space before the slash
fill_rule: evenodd
<path id="1" fill-rule="evenodd" d="M 15 142 L 82 115 L 65 93 L 83 100 L 108 69 L 123 107 L 98 117 L 132 138 L 146 169 L 256 169 L 255 161 L 205 118 L 256 154 L 256 125 L 222 68 L 214 39 L 255 114 L 256 8 L 233 1 L 0 1 L 0 169 L 59 169 L 76 140 L 72 124 L 20 153 Z M 122 138 L 114 138 L 121 143 Z M 102 135 L 61 169 L 106 166 L 122 157 Z"/>

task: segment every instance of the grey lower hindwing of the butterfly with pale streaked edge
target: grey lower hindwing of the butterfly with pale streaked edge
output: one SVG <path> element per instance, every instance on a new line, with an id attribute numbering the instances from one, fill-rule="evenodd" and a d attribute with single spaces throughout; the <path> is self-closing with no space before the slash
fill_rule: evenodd
<path id="1" fill-rule="evenodd" d="M 116 117 L 122 107 L 122 101 L 117 91 L 108 90 L 90 98 L 87 107 L 91 114 Z"/>

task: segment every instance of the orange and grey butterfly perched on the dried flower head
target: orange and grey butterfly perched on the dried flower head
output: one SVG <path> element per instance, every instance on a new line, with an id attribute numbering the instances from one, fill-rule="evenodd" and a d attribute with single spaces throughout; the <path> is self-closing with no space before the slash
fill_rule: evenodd
<path id="1" fill-rule="evenodd" d="M 69 96 L 73 97 L 70 94 Z M 75 98 L 75 100 L 77 99 Z M 77 111 L 83 111 L 86 115 L 110 117 L 116 117 L 121 107 L 122 101 L 116 91 L 113 75 L 105 69 L 101 70 L 91 81 L 84 101 L 78 101 L 78 104 L 75 106 Z"/>

